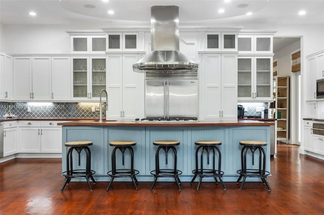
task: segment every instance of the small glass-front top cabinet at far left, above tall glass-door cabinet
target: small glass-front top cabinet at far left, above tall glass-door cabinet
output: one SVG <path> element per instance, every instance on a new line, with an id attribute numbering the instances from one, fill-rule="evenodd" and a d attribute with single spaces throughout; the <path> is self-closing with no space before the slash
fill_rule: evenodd
<path id="1" fill-rule="evenodd" d="M 72 53 L 105 53 L 106 35 L 74 35 L 71 36 Z"/>

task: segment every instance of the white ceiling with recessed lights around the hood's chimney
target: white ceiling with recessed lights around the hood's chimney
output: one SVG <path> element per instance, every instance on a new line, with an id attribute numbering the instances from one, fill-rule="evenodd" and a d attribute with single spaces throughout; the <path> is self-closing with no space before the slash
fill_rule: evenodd
<path id="1" fill-rule="evenodd" d="M 86 8 L 91 5 L 95 8 Z M 324 0 L 0 0 L 1 24 L 150 25 L 150 7 L 179 6 L 181 25 L 324 24 Z M 242 8 L 242 5 L 248 5 Z M 225 9 L 219 14 L 220 8 Z M 107 14 L 114 10 L 114 15 Z M 298 12 L 305 10 L 304 16 Z M 37 15 L 31 17 L 28 13 Z M 252 11 L 252 16 L 245 15 Z M 297 38 L 299 39 L 299 38 Z M 274 39 L 274 48 L 296 42 Z"/>

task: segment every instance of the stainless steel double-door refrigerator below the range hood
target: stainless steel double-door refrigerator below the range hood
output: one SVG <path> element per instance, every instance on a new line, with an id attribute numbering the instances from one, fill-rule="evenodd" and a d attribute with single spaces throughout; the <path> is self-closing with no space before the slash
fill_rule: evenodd
<path id="1" fill-rule="evenodd" d="M 197 79 L 146 79 L 146 117 L 197 118 Z"/>

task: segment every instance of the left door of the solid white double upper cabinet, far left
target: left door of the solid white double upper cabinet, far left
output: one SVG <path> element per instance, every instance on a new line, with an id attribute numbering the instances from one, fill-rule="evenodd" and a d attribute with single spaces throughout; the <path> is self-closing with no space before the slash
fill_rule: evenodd
<path id="1" fill-rule="evenodd" d="M 31 65 L 30 57 L 14 57 L 14 99 L 31 99 Z"/>

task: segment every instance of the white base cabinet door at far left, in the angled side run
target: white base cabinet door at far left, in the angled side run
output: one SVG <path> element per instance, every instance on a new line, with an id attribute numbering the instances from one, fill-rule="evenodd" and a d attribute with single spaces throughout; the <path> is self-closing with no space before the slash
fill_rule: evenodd
<path id="1" fill-rule="evenodd" d="M 17 153 L 17 127 L 4 130 L 4 156 Z"/>

